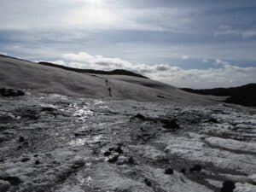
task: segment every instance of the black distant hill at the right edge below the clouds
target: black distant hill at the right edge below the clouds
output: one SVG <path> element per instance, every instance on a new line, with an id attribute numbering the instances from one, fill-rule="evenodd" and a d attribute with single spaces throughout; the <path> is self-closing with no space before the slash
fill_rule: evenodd
<path id="1" fill-rule="evenodd" d="M 256 84 L 246 84 L 239 87 L 230 88 L 214 88 L 205 90 L 182 88 L 181 90 L 201 95 L 229 96 L 225 102 L 256 107 Z"/>

